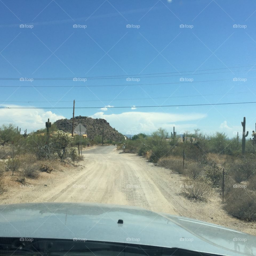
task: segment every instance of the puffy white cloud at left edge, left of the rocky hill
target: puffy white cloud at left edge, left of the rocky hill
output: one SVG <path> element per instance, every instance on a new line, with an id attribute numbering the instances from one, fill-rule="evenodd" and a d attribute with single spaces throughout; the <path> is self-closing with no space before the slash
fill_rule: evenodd
<path id="1" fill-rule="evenodd" d="M 3 107 L 26 107 L 17 105 L 2 105 Z M 31 106 L 27 106 L 31 107 Z M 58 119 L 65 118 L 62 115 L 57 115 L 51 111 L 43 109 L 0 109 L 0 125 L 8 125 L 12 123 L 15 126 L 21 127 L 21 130 L 27 129 L 28 132 L 45 128 L 47 119 L 53 123 Z"/>

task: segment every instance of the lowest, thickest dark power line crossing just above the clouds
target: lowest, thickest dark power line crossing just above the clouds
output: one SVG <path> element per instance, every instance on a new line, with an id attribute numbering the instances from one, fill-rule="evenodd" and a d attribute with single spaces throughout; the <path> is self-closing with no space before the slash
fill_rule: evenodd
<path id="1" fill-rule="evenodd" d="M 231 105 L 231 104 L 249 104 L 249 103 L 256 103 L 253 102 L 232 102 L 232 103 L 212 103 L 212 104 L 189 104 L 189 105 L 163 105 L 163 106 L 136 106 L 138 107 L 186 107 L 186 106 L 213 106 L 213 105 Z M 130 108 L 132 106 L 124 106 L 124 107 L 109 107 L 111 109 L 117 108 Z M 0 107 L 1 109 L 73 109 L 73 107 Z M 76 107 L 76 109 L 99 109 L 99 108 L 106 108 L 106 107 Z"/>

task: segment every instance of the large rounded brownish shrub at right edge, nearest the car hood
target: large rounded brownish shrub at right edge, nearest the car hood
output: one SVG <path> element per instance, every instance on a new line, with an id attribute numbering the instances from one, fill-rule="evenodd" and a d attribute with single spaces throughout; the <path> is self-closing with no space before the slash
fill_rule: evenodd
<path id="1" fill-rule="evenodd" d="M 255 196 L 255 192 L 247 188 L 232 188 L 226 194 L 224 209 L 239 219 L 256 220 Z"/>

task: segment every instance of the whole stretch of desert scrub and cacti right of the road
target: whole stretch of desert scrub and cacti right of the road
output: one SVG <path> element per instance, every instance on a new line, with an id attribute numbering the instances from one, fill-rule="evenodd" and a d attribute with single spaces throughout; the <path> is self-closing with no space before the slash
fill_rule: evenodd
<path id="1" fill-rule="evenodd" d="M 181 136 L 159 128 L 150 136 L 134 135 L 125 143 L 125 152 L 146 157 L 184 176 L 181 194 L 193 200 L 207 200 L 214 195 L 232 216 L 256 220 L 255 132 L 245 139 L 245 118 L 241 138 L 228 138 L 225 133 L 202 134 L 199 129 Z M 183 158 L 184 154 L 184 158 Z M 184 159 L 184 160 L 183 160 Z M 224 171 L 223 171 L 224 170 Z M 224 175 L 224 187 L 223 187 Z"/>

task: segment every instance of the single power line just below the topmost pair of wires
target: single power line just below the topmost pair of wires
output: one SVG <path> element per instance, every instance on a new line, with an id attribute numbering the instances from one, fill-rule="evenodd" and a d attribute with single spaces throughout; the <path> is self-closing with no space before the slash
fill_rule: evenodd
<path id="1" fill-rule="evenodd" d="M 249 78 L 256 78 L 256 77 L 247 77 L 246 79 Z M 39 88 L 39 87 L 107 87 L 107 86 L 138 86 L 138 85 L 171 85 L 171 84 L 182 84 L 182 83 L 203 83 L 203 82 L 216 82 L 216 81 L 230 81 L 233 79 L 216 79 L 216 80 L 205 80 L 205 81 L 191 81 L 191 82 L 175 82 L 175 83 L 144 83 L 144 84 L 129 84 L 129 85 L 45 85 L 45 86 L 18 86 L 18 85 L 0 85 L 0 87 L 19 87 L 19 88 L 24 88 L 24 87 L 30 87 L 30 88 Z M 239 81 L 238 81 L 239 82 Z"/>

